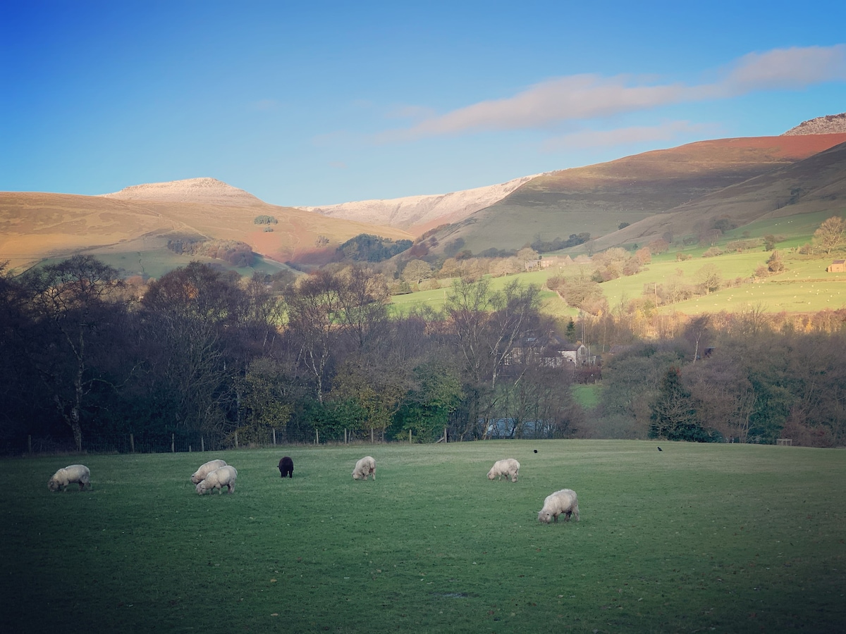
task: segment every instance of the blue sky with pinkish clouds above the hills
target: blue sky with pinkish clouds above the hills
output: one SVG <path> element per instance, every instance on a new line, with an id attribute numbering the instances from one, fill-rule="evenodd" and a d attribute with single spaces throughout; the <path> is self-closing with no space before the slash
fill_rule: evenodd
<path id="1" fill-rule="evenodd" d="M 0 191 L 445 194 L 846 112 L 846 2 L 0 3 Z"/>

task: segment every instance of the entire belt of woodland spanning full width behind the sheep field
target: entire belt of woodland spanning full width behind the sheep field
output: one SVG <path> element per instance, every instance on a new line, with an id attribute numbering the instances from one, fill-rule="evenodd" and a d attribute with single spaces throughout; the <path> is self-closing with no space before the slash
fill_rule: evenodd
<path id="1" fill-rule="evenodd" d="M 3 271 L 0 271 L 3 272 Z M 459 277 L 402 314 L 363 265 L 293 277 L 192 262 L 124 280 L 88 255 L 0 276 L 0 451 L 618 438 L 842 445 L 846 314 L 541 310 Z M 656 316 L 656 320 L 659 319 Z M 602 354 L 564 357 L 584 344 Z M 574 385 L 598 391 L 589 406 Z"/>

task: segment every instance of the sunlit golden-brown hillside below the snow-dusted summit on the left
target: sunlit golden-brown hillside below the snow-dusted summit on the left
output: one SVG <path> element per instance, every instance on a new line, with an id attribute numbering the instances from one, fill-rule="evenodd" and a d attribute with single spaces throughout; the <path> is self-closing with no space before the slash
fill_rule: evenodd
<path id="1" fill-rule="evenodd" d="M 240 190 L 239 190 L 240 191 Z M 250 196 L 250 194 L 246 194 Z M 290 207 L 267 205 L 255 197 L 244 205 L 157 199 L 120 199 L 32 192 L 0 192 L 0 260 L 13 268 L 46 257 L 82 250 L 146 251 L 161 248 L 168 238 L 195 237 L 240 240 L 256 253 L 280 262 L 328 261 L 339 243 L 360 233 L 409 239 L 391 227 L 344 221 Z M 277 218 L 272 232 L 255 225 L 255 216 Z M 328 238 L 325 248 L 316 246 Z"/>

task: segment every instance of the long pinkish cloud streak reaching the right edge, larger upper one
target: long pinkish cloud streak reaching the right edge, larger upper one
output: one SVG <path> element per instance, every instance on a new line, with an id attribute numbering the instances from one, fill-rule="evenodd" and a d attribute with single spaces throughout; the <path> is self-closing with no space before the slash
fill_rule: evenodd
<path id="1" fill-rule="evenodd" d="M 711 84 L 650 83 L 629 75 L 571 75 L 530 86 L 511 97 L 480 101 L 424 118 L 409 128 L 383 133 L 378 140 L 552 128 L 563 122 L 607 118 L 684 101 L 721 99 L 755 90 L 796 89 L 843 79 L 846 79 L 846 45 L 843 44 L 753 52 L 723 69 L 720 79 Z"/>

